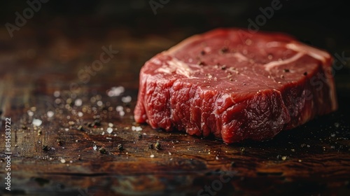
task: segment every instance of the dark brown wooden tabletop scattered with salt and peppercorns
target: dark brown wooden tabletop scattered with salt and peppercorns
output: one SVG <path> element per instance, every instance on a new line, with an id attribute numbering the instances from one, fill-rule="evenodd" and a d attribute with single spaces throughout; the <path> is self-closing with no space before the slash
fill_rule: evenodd
<path id="1" fill-rule="evenodd" d="M 350 193 L 348 66 L 336 73 L 335 113 L 270 141 L 225 145 L 133 120 L 139 69 L 193 29 L 137 34 L 128 27 L 85 31 L 55 22 L 62 29 L 26 27 L 12 39 L 6 29 L 0 32 L 0 195 Z M 92 63 L 103 47 L 118 53 L 97 69 Z M 109 97 L 118 86 L 125 92 Z M 130 103 L 123 102 L 127 96 Z M 6 118 L 10 191 L 4 184 Z M 33 125 L 34 119 L 41 125 Z"/>

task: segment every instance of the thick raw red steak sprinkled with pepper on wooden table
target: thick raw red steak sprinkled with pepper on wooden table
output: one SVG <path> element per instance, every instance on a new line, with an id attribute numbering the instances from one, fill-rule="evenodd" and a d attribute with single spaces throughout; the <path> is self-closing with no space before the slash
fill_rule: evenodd
<path id="1" fill-rule="evenodd" d="M 215 29 L 142 67 L 137 123 L 262 141 L 337 109 L 332 57 L 291 36 Z"/>

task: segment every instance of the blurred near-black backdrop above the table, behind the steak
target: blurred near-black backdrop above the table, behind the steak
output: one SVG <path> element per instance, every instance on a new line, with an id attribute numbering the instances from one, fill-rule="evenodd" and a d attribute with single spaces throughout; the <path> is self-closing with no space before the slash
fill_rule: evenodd
<path id="1" fill-rule="evenodd" d="M 158 0 L 155 0 L 158 2 Z M 259 8 L 272 1 L 172 1 L 158 8 L 154 15 L 147 0 L 132 1 L 48 1 L 28 20 L 23 29 L 52 29 L 65 36 L 83 34 L 103 36 L 109 29 L 130 27 L 133 36 L 162 34 L 165 31 L 188 29 L 200 33 L 216 27 L 248 27 Z M 349 45 L 349 14 L 346 1 L 281 0 L 282 8 L 260 27 L 265 31 L 283 31 L 302 41 L 326 48 L 330 52 Z M 26 1 L 1 3 L 0 21 L 14 24 L 15 12 L 27 8 Z M 21 29 L 22 31 L 22 29 Z M 18 34 L 18 31 L 15 31 Z"/>

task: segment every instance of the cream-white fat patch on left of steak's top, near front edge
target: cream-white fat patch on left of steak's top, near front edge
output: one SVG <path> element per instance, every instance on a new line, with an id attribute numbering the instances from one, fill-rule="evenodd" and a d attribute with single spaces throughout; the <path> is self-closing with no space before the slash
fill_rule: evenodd
<path id="1" fill-rule="evenodd" d="M 168 74 L 175 72 L 176 74 L 190 78 L 190 73 L 192 73 L 192 70 L 190 69 L 190 66 L 188 66 L 188 64 L 185 62 L 182 62 L 176 58 L 172 58 L 172 60 L 167 61 L 167 64 L 169 65 L 163 64 L 162 67 L 158 68 L 155 71 Z"/>

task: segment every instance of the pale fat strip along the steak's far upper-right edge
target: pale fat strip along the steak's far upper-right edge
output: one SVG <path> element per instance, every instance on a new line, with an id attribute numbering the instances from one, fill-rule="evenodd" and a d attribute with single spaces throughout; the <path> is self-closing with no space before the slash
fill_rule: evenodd
<path id="1" fill-rule="evenodd" d="M 315 59 L 322 61 L 323 63 L 326 62 L 326 59 L 330 58 L 330 55 L 327 52 L 324 52 L 322 50 L 318 50 L 318 49 L 313 48 L 309 45 L 304 45 L 301 43 L 288 43 L 286 45 L 286 48 L 288 48 L 290 50 L 294 50 L 296 52 L 301 52 L 301 53 L 307 54 L 311 57 L 314 57 Z"/>

